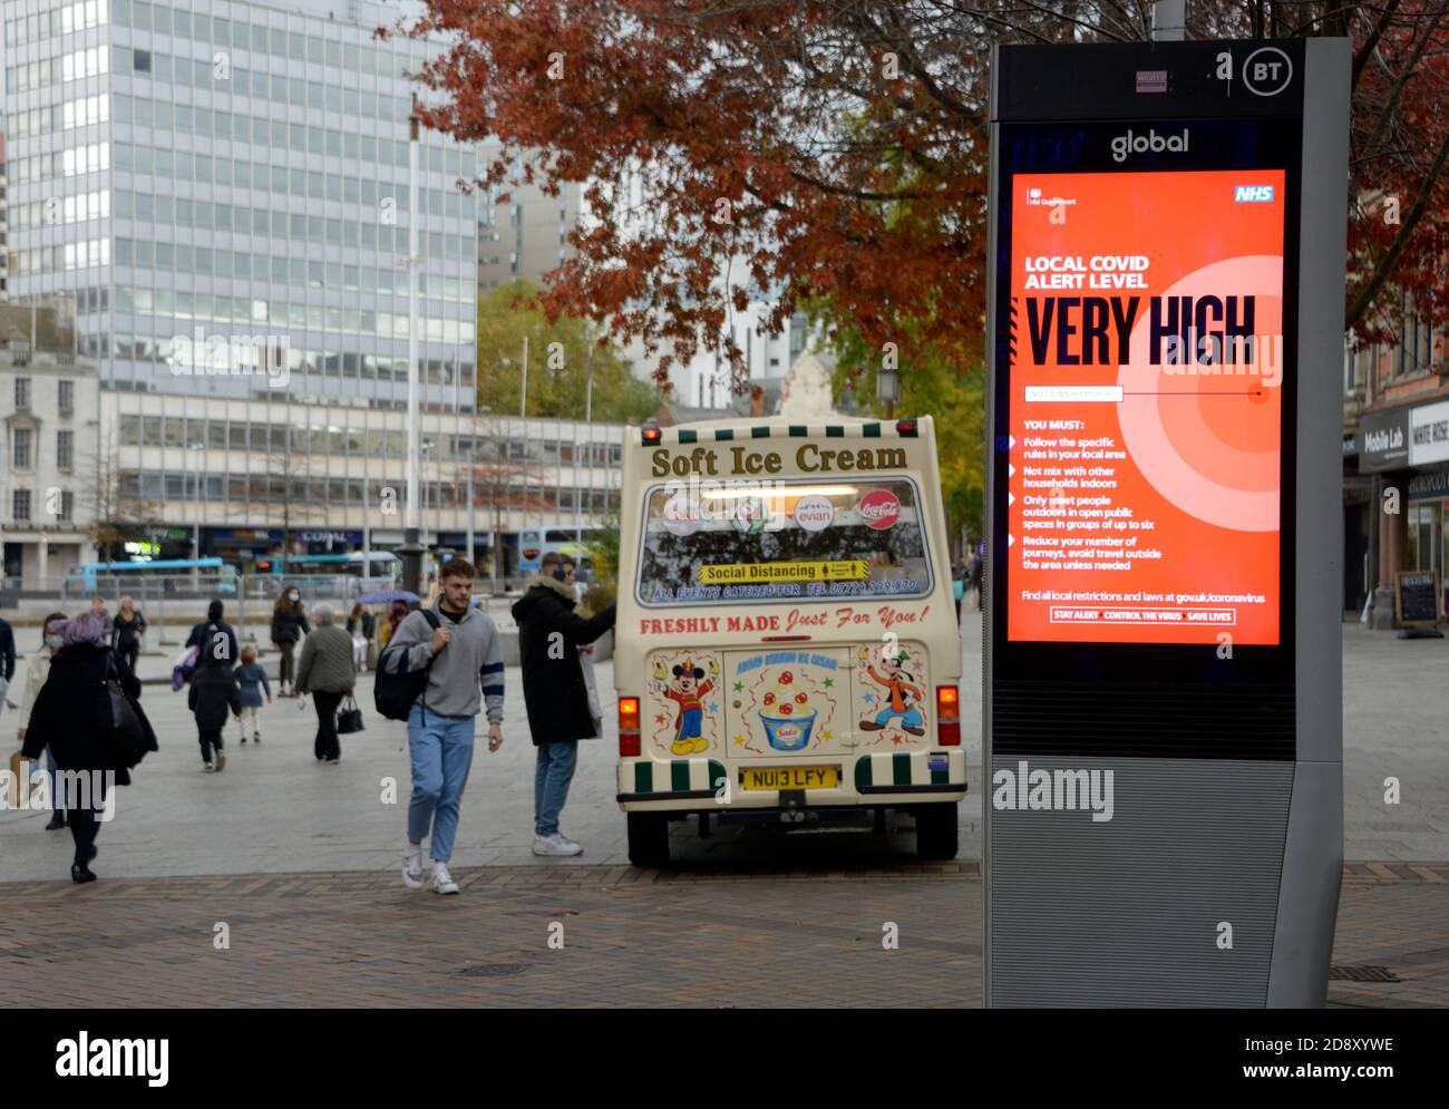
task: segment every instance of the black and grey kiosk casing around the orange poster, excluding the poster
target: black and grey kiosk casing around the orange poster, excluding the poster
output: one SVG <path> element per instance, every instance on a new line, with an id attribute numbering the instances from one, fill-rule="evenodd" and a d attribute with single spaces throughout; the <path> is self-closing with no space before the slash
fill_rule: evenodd
<path id="1" fill-rule="evenodd" d="M 1255 88 L 1239 81 L 1230 90 L 1214 83 L 1224 54 L 1230 55 L 1233 72 L 1256 75 L 1250 62 L 1269 57 L 1264 51 L 1275 59 L 1274 68 L 1264 72 L 1275 80 L 1284 74 L 1279 57 L 1290 72 L 1287 83 L 1272 86 L 1272 93 L 1265 83 Z M 993 581 L 984 596 L 985 1002 L 1321 1006 L 1343 867 L 1337 597 L 1342 512 L 1336 455 L 1342 422 L 1348 43 L 1310 39 L 1291 45 L 1006 46 L 997 49 L 993 71 L 988 257 L 994 265 L 988 267 L 987 349 L 997 361 L 988 374 L 987 400 Z M 1219 699 L 1211 680 L 1178 678 L 1188 696 L 1200 700 L 1174 707 L 1175 687 L 1153 686 L 1156 678 L 1151 676 L 1103 665 L 1103 686 L 1090 706 L 1095 715 L 1088 713 L 1090 722 L 1082 725 L 1078 693 L 1093 696 L 1088 686 L 1068 687 L 1051 668 L 1033 671 L 1003 663 L 1003 657 L 1019 658 L 1004 635 L 1010 544 L 1004 535 L 1003 383 L 1017 355 L 1001 339 L 1007 325 L 997 288 L 1003 274 L 1010 273 L 1010 251 L 1003 249 L 1009 225 L 1000 215 L 1003 128 L 1014 128 L 1014 157 L 1027 146 L 1081 157 L 1082 144 L 1097 141 L 1087 123 L 1111 120 L 1122 125 L 1114 130 L 1129 135 L 1130 125 L 1140 136 L 1153 122 L 1166 133 L 1164 120 L 1171 120 L 1171 133 L 1178 133 L 1201 120 L 1203 135 L 1210 136 L 1211 120 L 1272 116 L 1282 126 L 1284 119 L 1300 115 L 1298 225 L 1285 229 L 1284 248 L 1285 273 L 1298 275 L 1295 357 L 1288 367 L 1290 374 L 1297 374 L 1297 407 L 1284 415 L 1284 449 L 1290 444 L 1293 448 L 1285 455 L 1291 464 L 1284 465 L 1281 493 L 1282 502 L 1291 504 L 1284 512 L 1282 548 L 1291 552 L 1291 562 L 1284 562 L 1287 596 L 1293 597 L 1285 609 L 1291 635 L 1284 635 L 1282 651 L 1288 655 L 1279 658 L 1271 678 L 1277 684 L 1264 694 L 1279 700 L 1245 707 L 1235 719 L 1248 725 L 1233 734 L 1214 732 L 1216 725 L 1198 725 L 1211 712 L 1194 718 L 1191 707 L 1211 709 Z M 1026 138 L 1023 132 L 1029 132 Z M 1201 144 L 1203 138 L 1195 141 Z M 1193 149 L 1194 157 L 1204 155 L 1201 145 Z M 1117 159 L 1124 170 L 1136 168 L 1129 154 L 1124 145 Z M 1162 164 L 1153 162 L 1158 168 Z M 1191 213 L 1184 217 L 1191 219 Z M 1135 248 L 1127 242 L 1122 249 Z M 1290 297 L 1287 284 L 1284 296 Z M 1136 683 L 1143 697 L 1162 700 L 1133 697 L 1129 683 Z M 1252 680 L 1222 693 L 1236 697 L 1243 689 L 1253 689 Z M 1258 694 L 1242 696 L 1250 700 Z M 1049 697 L 1058 699 L 1053 706 L 1039 707 Z M 1119 703 L 1123 709 L 1114 716 Z M 1253 715 L 1259 709 L 1262 713 Z M 1265 757 L 1266 745 L 1252 748 L 1258 739 L 1253 720 L 1274 713 L 1285 723 L 1275 735 L 1264 725 L 1264 742 L 1277 744 Z M 1224 710 L 1223 719 L 1230 716 Z M 1119 739 L 1111 726 L 1117 720 L 1130 742 L 1113 742 Z M 1151 757 L 1159 738 L 1171 741 L 1177 738 L 1174 729 L 1193 728 L 1201 732 L 1187 744 L 1195 744 L 1195 757 Z M 1098 738 L 1101 749 L 1094 752 Z M 1029 758 L 1023 754 L 1027 748 Z M 1023 761 L 1032 768 L 1110 770 L 1111 819 L 1094 822 L 1081 809 L 997 807 L 997 773 L 1019 774 Z"/>

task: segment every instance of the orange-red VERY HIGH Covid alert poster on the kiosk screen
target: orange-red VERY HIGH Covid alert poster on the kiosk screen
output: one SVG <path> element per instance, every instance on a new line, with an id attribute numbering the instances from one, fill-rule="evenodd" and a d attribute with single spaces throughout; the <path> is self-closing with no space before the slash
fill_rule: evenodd
<path id="1" fill-rule="evenodd" d="M 1010 639 L 1279 642 L 1284 188 L 1013 178 Z"/>

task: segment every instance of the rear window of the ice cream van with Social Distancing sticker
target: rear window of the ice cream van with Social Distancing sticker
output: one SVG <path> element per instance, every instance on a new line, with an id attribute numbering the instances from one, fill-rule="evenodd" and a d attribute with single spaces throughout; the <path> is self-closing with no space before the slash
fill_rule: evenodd
<path id="1" fill-rule="evenodd" d="M 909 478 L 669 483 L 645 494 L 642 605 L 930 593 L 920 494 Z"/>

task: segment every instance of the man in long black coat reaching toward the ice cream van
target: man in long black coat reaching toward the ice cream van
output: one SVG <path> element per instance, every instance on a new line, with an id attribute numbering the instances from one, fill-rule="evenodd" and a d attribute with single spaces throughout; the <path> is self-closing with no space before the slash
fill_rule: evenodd
<path id="1" fill-rule="evenodd" d="M 597 735 L 578 648 L 614 626 L 614 606 L 585 620 L 574 612 L 575 605 L 574 590 L 564 584 L 559 557 L 551 551 L 543 555 L 542 573 L 529 580 L 527 591 L 513 606 L 523 661 L 523 703 L 538 747 L 535 855 L 577 855 L 584 850 L 558 831 L 578 765 L 578 741 Z"/>

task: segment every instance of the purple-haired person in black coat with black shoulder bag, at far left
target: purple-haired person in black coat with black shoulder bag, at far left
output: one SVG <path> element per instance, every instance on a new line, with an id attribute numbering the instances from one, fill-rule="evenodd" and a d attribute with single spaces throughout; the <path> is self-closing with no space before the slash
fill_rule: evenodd
<path id="1" fill-rule="evenodd" d="M 61 647 L 49 661 L 45 684 L 26 722 L 22 754 L 33 760 L 42 749 L 49 751 L 77 786 L 77 794 L 88 792 L 88 797 L 67 797 L 65 807 L 75 847 L 71 880 L 94 881 L 90 864 L 97 854 L 99 815 L 114 805 L 110 786 L 130 784 L 130 770 L 146 751 L 156 749 L 156 736 L 135 700 L 141 683 L 116 665 L 107 639 L 109 620 L 84 612 L 48 626 L 57 629 Z M 128 707 L 123 720 L 101 726 L 100 722 L 110 720 L 114 713 L 113 683 L 120 687 Z"/>

